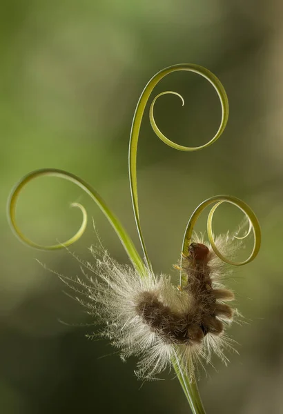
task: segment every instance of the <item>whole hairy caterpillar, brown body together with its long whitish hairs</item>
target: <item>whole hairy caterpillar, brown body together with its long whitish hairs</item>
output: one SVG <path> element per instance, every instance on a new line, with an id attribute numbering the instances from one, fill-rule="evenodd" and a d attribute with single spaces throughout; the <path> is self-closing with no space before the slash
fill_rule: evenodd
<path id="1" fill-rule="evenodd" d="M 231 254 L 233 240 L 226 235 L 217 237 L 216 243 Z M 118 264 L 106 250 L 90 250 L 98 257 L 97 264 L 86 267 L 96 277 L 84 272 L 88 282 L 77 279 L 87 297 L 79 300 L 104 326 L 99 335 L 119 348 L 122 359 L 140 357 L 138 377 L 154 378 L 176 354 L 190 377 L 196 362 L 209 362 L 212 351 L 227 361 L 223 348 L 231 347 L 232 340 L 225 330 L 234 311 L 224 302 L 233 301 L 234 295 L 221 284 L 230 270 L 209 244 L 195 239 L 189 246 L 181 265 L 187 280 L 182 290 L 171 283 L 170 276 L 156 276 L 147 268 L 146 277 L 141 278 L 133 266 Z"/>

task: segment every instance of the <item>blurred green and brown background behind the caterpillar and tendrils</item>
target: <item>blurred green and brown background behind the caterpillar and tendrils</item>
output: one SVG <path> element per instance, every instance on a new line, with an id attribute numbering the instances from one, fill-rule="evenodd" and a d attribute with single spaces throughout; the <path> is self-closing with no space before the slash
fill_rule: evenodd
<path id="1" fill-rule="evenodd" d="M 197 204 L 231 193 L 252 206 L 262 249 L 228 281 L 246 317 L 229 331 L 240 355 L 229 355 L 227 368 L 213 360 L 199 388 L 208 413 L 283 413 L 282 11 L 280 0 L 0 1 L 1 413 L 188 413 L 172 373 L 142 384 L 135 359 L 122 364 L 108 342 L 86 339 L 92 320 L 35 259 L 73 277 L 76 260 L 66 250 L 24 246 L 6 219 L 6 200 L 22 175 L 61 168 L 95 186 L 138 246 L 127 172 L 133 113 L 148 79 L 184 62 L 221 79 L 231 116 L 219 141 L 195 153 L 166 147 L 144 117 L 138 184 L 148 252 L 157 273 L 177 283 L 172 264 Z M 179 144 L 204 144 L 219 124 L 215 91 L 188 72 L 170 75 L 156 92 L 168 89 L 186 105 L 172 95 L 159 99 L 157 124 Z M 19 225 L 39 243 L 63 241 L 81 218 L 68 208 L 72 201 L 86 206 L 111 254 L 128 262 L 97 206 L 67 181 L 41 178 L 26 187 Z M 222 206 L 215 233 L 241 219 Z M 90 259 L 95 242 L 90 220 L 71 250 Z"/>

